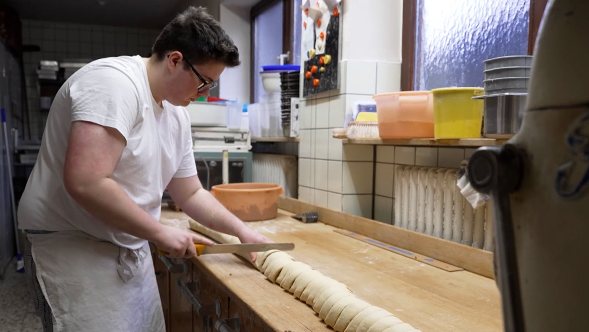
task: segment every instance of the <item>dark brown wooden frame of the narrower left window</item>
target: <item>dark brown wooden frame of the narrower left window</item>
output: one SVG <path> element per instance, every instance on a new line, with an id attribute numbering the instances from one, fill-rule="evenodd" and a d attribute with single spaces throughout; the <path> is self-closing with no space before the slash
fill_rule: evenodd
<path id="1" fill-rule="evenodd" d="M 262 14 L 270 6 L 282 1 L 282 52 L 286 54 L 288 52 L 288 62 L 293 61 L 293 6 L 294 0 L 262 0 L 254 5 L 250 11 L 250 102 L 254 102 L 256 90 L 254 84 L 256 84 L 257 69 L 255 68 L 255 57 L 256 57 L 256 24 L 255 20 L 258 15 Z"/>

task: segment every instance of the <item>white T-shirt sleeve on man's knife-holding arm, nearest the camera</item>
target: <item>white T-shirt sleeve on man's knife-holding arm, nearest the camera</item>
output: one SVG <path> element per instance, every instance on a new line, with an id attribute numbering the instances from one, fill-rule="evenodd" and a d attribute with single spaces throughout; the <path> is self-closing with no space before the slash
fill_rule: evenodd
<path id="1" fill-rule="evenodd" d="M 93 68 L 71 84 L 69 93 L 72 122 L 112 127 L 128 140 L 141 114 L 138 89 L 128 75 L 112 67 Z"/>

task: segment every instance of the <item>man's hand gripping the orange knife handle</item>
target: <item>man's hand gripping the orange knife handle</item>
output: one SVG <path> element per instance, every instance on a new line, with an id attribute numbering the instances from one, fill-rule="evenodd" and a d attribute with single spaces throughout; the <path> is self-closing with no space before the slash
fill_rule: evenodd
<path id="1" fill-rule="evenodd" d="M 194 244 L 214 245 L 214 242 L 203 236 L 193 234 L 184 229 L 161 225 L 152 241 L 157 248 L 168 252 L 172 258 L 192 258 L 196 255 Z"/>

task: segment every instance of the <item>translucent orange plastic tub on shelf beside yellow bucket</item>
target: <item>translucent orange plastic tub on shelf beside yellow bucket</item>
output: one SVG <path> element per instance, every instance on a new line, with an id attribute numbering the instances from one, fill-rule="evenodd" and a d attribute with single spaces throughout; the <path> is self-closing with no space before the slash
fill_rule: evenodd
<path id="1" fill-rule="evenodd" d="M 434 98 L 430 91 L 399 91 L 372 98 L 381 139 L 434 137 Z"/>

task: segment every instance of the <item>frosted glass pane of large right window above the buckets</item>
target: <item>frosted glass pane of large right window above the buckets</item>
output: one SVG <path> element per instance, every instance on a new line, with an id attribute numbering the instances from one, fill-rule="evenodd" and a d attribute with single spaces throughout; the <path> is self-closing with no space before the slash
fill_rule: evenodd
<path id="1" fill-rule="evenodd" d="M 482 87 L 483 61 L 528 51 L 530 0 L 417 0 L 415 90 Z"/>

